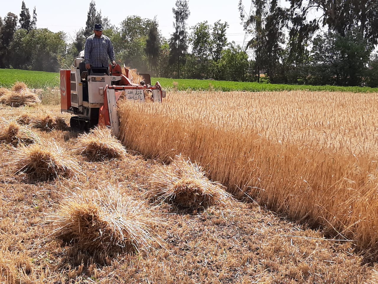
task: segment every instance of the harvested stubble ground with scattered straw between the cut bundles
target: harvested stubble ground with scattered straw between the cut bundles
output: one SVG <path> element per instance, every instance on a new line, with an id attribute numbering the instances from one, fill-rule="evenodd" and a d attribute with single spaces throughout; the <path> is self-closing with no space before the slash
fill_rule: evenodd
<path id="1" fill-rule="evenodd" d="M 60 114 L 59 106 L 45 106 Z M 0 117 L 33 116 L 33 108 L 0 107 Z M 68 121 L 69 116 L 65 116 Z M 36 130 L 67 150 L 75 133 Z M 129 153 L 132 153 L 130 149 Z M 71 178 L 27 183 L 6 166 L 11 147 L 0 144 L 0 283 L 375 283 L 378 265 L 365 263 L 349 241 L 329 240 L 322 231 L 298 225 L 251 201 L 172 212 L 169 204 L 150 210 L 164 218 L 159 237 L 140 253 L 87 253 L 51 238 L 41 220 L 64 198 L 108 184 L 146 201 L 148 177 L 163 165 L 141 155 L 88 162 L 74 156 L 81 173 Z"/>

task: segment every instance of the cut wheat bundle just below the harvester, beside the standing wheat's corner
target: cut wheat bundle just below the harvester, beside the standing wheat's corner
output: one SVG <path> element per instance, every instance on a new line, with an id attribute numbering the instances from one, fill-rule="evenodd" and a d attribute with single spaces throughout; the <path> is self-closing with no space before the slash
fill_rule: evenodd
<path id="1" fill-rule="evenodd" d="M 90 133 L 81 134 L 72 152 L 85 156 L 89 161 L 122 159 L 127 154 L 122 144 L 112 136 L 111 130 L 97 127 Z"/>

